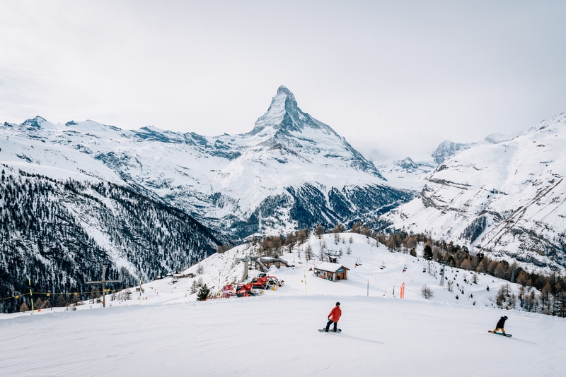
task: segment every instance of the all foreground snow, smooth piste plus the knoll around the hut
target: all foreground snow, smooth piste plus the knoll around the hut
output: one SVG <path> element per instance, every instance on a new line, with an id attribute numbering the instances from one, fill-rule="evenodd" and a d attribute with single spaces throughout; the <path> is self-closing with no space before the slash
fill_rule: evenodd
<path id="1" fill-rule="evenodd" d="M 344 251 L 339 263 L 350 268 L 345 281 L 314 276 L 308 270 L 313 263 L 306 263 L 301 251 L 304 263 L 273 268 L 270 274 L 285 283 L 260 297 L 195 301 L 187 292 L 192 279 L 185 278 L 144 284 L 141 305 L 134 292 L 131 301 L 107 301 L 112 306 L 105 309 L 94 304 L 86 310 L 91 309 L 86 304 L 77 311 L 0 315 L 0 374 L 566 376 L 564 318 L 495 309 L 489 298 L 503 281 L 480 275 L 478 285 L 469 285 L 463 282 L 468 272 L 449 268 L 446 276 L 465 290 L 456 300 L 456 289 L 448 292 L 434 274 L 422 272 L 422 258 L 389 253 L 359 234 L 352 234 L 347 255 L 349 237 L 342 234 L 345 243 L 337 245 L 333 235 L 324 240 L 328 249 Z M 309 242 L 318 253 L 320 241 Z M 222 280 L 241 277 L 237 258 L 244 249 L 207 258 L 199 277 L 209 286 L 217 284 L 219 270 Z M 299 259 L 297 249 L 283 257 Z M 405 299 L 398 297 L 402 282 Z M 434 291 L 430 301 L 420 297 L 424 283 Z M 342 304 L 342 333 L 319 333 L 336 301 Z M 509 317 L 505 329 L 511 338 L 487 333 L 503 315 Z"/>

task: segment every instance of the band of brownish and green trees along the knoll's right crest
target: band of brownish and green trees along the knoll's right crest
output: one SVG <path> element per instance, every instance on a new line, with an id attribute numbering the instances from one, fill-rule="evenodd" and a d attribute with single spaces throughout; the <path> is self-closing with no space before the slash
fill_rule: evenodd
<path id="1" fill-rule="evenodd" d="M 412 256 L 417 256 L 416 247 L 422 242 L 424 244 L 423 258 L 429 261 L 446 263 L 449 267 L 475 273 L 485 273 L 521 285 L 517 294 L 512 292 L 512 286 L 509 284 L 503 285 L 497 292 L 494 292 L 495 302 L 500 308 L 520 308 L 522 299 L 525 311 L 566 317 L 566 278 L 556 273 L 543 275 L 529 272 L 519 265 L 509 265 L 507 261 L 495 261 L 485 253 L 472 254 L 466 246 L 434 240 L 427 234 L 376 232 L 371 227 L 363 225 L 362 222 L 354 223 L 350 229 L 341 223 L 332 229 L 325 229 L 323 225 L 318 225 L 314 229 L 314 234 L 320 239 L 322 234 L 339 234 L 347 230 L 364 234 L 369 239 L 375 239 L 391 252 L 410 253 Z M 289 232 L 286 236 L 256 238 L 252 243 L 259 256 L 279 256 L 285 251 L 289 252 L 294 247 L 304 244 L 310 234 L 311 230 L 306 227 Z M 349 248 L 347 253 L 350 253 L 348 250 Z M 304 254 L 307 259 L 314 257 L 312 249 L 308 247 L 304 250 Z"/>

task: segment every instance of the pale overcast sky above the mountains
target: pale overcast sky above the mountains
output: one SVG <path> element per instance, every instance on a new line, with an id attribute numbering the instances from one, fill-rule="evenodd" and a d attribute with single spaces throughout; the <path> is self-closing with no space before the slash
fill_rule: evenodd
<path id="1" fill-rule="evenodd" d="M 566 111 L 566 1 L 3 1 L 0 121 L 245 133 L 279 85 L 375 162 Z"/>

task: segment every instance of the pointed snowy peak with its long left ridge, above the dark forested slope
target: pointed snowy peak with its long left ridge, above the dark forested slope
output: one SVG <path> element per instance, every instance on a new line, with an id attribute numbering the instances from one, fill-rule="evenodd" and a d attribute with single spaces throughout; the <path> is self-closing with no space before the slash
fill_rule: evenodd
<path id="1" fill-rule="evenodd" d="M 5 164 L 126 184 L 232 240 L 370 221 L 413 197 L 387 186 L 371 161 L 302 112 L 283 86 L 253 130 L 240 135 L 52 124 L 37 116 L 1 126 L 0 148 Z"/>

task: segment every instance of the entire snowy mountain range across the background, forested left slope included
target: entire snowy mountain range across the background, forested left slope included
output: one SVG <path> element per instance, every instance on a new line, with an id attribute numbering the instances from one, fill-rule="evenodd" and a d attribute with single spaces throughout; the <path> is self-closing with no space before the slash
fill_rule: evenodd
<path id="1" fill-rule="evenodd" d="M 357 221 L 560 269 L 564 122 L 562 114 L 516 138 L 445 141 L 434 162 L 378 167 L 283 86 L 239 135 L 40 116 L 6 122 L 0 294 L 21 290 L 30 274 L 45 289 L 88 289 L 103 263 L 107 277 L 133 283 L 186 268 L 224 243 Z"/>

